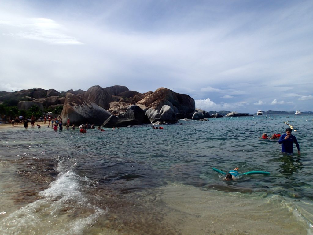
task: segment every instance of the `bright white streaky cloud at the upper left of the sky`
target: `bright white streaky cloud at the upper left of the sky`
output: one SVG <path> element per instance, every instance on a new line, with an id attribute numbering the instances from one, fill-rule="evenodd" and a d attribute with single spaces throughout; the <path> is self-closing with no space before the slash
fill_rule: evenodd
<path id="1" fill-rule="evenodd" d="M 9 26 L 9 30 L 17 32 L 3 33 L 14 38 L 43 41 L 49 44 L 78 45 L 78 39 L 66 35 L 64 26 L 47 18 L 20 18 L 16 21 L 0 21 L 0 25 Z"/>

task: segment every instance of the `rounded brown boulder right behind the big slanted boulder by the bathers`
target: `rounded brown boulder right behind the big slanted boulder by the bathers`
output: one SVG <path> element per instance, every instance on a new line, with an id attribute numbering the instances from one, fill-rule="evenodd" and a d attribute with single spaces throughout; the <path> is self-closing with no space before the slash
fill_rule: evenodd
<path id="1" fill-rule="evenodd" d="M 109 103 L 114 101 L 112 96 L 101 86 L 92 86 L 84 94 L 84 98 L 94 102 L 104 109 L 109 109 Z"/>

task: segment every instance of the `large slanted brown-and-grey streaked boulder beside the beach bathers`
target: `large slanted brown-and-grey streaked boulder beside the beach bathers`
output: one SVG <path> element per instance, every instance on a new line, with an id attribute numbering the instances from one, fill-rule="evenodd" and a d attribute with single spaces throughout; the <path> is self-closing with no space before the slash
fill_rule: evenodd
<path id="1" fill-rule="evenodd" d="M 96 105 L 94 102 L 83 97 L 67 93 L 64 107 L 61 113 L 63 120 L 70 119 L 70 123 L 79 125 L 80 123 L 94 123 L 102 125 L 102 123 L 112 114 L 104 108 Z M 63 123 L 64 125 L 66 122 Z"/>

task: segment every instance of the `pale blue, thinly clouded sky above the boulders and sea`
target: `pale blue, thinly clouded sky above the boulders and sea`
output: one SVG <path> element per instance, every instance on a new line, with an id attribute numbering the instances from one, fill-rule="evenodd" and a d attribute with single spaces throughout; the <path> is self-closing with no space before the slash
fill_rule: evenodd
<path id="1" fill-rule="evenodd" d="M 313 1 L 1 0 L 0 91 L 165 87 L 206 111 L 313 111 Z"/>

